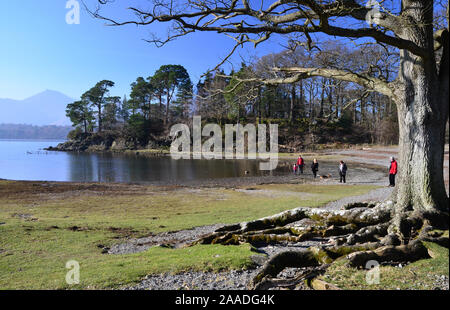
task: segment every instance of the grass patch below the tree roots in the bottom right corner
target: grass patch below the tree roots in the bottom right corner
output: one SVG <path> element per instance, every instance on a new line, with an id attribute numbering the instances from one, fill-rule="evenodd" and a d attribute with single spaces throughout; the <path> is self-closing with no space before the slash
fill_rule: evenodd
<path id="1" fill-rule="evenodd" d="M 320 278 L 347 290 L 430 290 L 436 286 L 436 277 L 449 275 L 448 249 L 434 243 L 424 244 L 432 258 L 416 261 L 403 268 L 380 266 L 378 284 L 368 284 L 368 270 L 348 267 L 344 258 L 336 260 Z"/>

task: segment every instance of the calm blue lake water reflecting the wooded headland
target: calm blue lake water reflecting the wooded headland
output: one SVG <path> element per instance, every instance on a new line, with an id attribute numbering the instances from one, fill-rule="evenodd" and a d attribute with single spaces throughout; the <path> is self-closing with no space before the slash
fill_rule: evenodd
<path id="1" fill-rule="evenodd" d="M 11 180 L 146 183 L 267 175 L 256 160 L 174 160 L 123 154 L 45 151 L 62 141 L 1 140 L 0 178 Z M 278 171 L 280 173 L 280 171 Z M 287 173 L 287 172 L 284 172 Z"/>

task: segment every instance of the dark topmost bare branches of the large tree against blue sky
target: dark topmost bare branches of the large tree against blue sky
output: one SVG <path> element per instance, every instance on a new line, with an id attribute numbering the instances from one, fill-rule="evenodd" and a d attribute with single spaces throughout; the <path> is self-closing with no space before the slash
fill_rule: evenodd
<path id="1" fill-rule="evenodd" d="M 101 1 L 101 4 L 104 1 Z M 269 37 L 272 33 L 324 33 L 331 36 L 348 38 L 372 38 L 377 42 L 389 44 L 399 49 L 406 49 L 420 57 L 426 57 L 427 52 L 414 42 L 402 39 L 395 35 L 389 35 L 392 31 L 401 31 L 401 17 L 385 12 L 374 13 L 369 8 L 363 7 L 354 0 L 336 0 L 329 4 L 322 4 L 321 1 L 313 0 L 278 0 L 266 10 L 252 9 L 250 3 L 243 1 L 238 5 L 237 1 L 226 2 L 212 0 L 190 0 L 186 4 L 186 9 L 175 12 L 173 3 L 170 5 L 164 2 L 155 2 L 152 12 L 143 11 L 134 7 L 129 8 L 137 16 L 137 20 L 118 22 L 112 18 L 107 18 L 99 14 L 99 9 L 90 12 L 95 18 L 106 20 L 114 26 L 127 24 L 150 25 L 154 22 L 174 22 L 175 30 L 180 36 L 192 31 L 209 31 L 217 33 L 233 34 L 265 34 Z M 261 5 L 262 6 L 262 5 Z M 288 6 L 280 13 L 277 9 Z M 156 12 L 156 8 L 165 8 L 161 12 Z M 191 11 L 189 11 L 191 9 Z M 294 12 L 290 12 L 294 10 Z M 239 20 L 239 17 L 242 20 Z M 342 28 L 330 25 L 331 17 L 354 18 L 358 21 L 366 21 L 368 18 L 377 23 L 377 29 L 373 27 Z M 250 25 L 244 20 L 254 19 L 259 24 Z M 219 24 L 220 21 L 232 20 L 227 24 Z M 170 37 L 170 36 L 169 36 Z M 170 38 L 166 41 L 170 41 Z"/>

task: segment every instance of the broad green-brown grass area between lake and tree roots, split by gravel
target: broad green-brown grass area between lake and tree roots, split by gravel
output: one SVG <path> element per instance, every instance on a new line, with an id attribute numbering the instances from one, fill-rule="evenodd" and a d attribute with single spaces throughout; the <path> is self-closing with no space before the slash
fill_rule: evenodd
<path id="1" fill-rule="evenodd" d="M 0 181 L 0 289 L 117 288 L 152 273 L 243 269 L 249 245 L 107 255 L 127 238 L 317 207 L 374 186 L 269 184 L 251 190 Z M 80 284 L 68 286 L 68 260 Z"/>

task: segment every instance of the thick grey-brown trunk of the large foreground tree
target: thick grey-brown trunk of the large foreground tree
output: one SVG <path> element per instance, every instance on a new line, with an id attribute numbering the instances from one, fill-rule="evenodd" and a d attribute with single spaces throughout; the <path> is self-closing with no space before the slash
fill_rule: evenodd
<path id="1" fill-rule="evenodd" d="M 429 7 L 429 1 L 403 1 L 403 15 L 416 25 L 404 27 L 401 37 L 427 49 L 430 57 L 421 59 L 408 51 L 400 51 L 399 87 L 395 94 L 400 131 L 395 214 L 401 218 L 402 214 L 414 211 L 425 218 L 431 217 L 430 221 L 439 221 L 433 215 L 448 212 L 443 178 L 448 84 L 440 83 L 442 77 L 439 78 L 436 70 L 433 11 Z M 448 48 L 444 49 L 445 62 Z M 446 98 L 442 98 L 443 95 Z M 399 223 L 397 221 L 397 225 Z"/>

